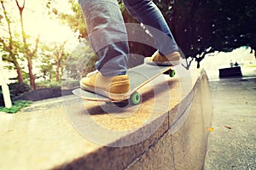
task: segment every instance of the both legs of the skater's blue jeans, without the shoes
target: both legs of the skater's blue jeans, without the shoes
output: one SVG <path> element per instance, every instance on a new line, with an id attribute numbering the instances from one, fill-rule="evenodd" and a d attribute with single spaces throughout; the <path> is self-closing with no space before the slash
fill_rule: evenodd
<path id="1" fill-rule="evenodd" d="M 178 50 L 166 20 L 152 1 L 123 2 L 128 12 L 142 22 L 154 37 L 160 54 L 172 54 Z M 125 74 L 129 54 L 128 37 L 117 0 L 79 0 L 79 4 L 84 13 L 90 44 L 99 58 L 96 69 L 105 77 Z"/>

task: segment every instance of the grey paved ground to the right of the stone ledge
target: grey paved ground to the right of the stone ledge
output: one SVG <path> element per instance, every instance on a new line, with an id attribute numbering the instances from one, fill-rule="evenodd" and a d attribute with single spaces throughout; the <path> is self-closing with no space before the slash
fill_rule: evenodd
<path id="1" fill-rule="evenodd" d="M 256 169 L 256 71 L 210 82 L 214 131 L 205 169 Z"/>

